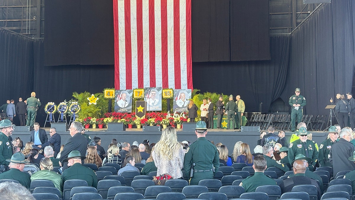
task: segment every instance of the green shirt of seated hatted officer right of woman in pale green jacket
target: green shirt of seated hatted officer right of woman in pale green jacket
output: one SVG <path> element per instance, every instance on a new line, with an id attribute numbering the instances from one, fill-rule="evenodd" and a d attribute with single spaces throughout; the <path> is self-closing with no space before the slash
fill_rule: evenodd
<path id="1" fill-rule="evenodd" d="M 60 190 L 63 191 L 64 182 L 66 180 L 80 179 L 85 180 L 88 186 L 97 188 L 97 177 L 95 172 L 80 163 L 75 163 L 68 169 L 64 170 L 60 179 Z"/>

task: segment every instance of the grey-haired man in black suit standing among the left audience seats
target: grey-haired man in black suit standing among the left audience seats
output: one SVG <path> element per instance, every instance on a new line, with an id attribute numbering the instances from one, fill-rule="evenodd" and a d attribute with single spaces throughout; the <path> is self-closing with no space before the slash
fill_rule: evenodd
<path id="1" fill-rule="evenodd" d="M 63 170 L 68 168 L 68 162 L 65 161 L 65 159 L 70 152 L 77 150 L 80 152 L 81 156 L 85 156 L 86 154 L 88 142 L 86 138 L 81 135 L 81 128 L 81 123 L 77 121 L 72 122 L 69 127 L 71 138 L 66 141 L 63 151 L 60 153 L 60 162 L 62 163 Z"/>

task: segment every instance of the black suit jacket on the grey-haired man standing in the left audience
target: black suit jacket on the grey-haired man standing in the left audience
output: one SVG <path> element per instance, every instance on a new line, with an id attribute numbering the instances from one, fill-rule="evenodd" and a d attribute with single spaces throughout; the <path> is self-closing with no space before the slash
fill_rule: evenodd
<path id="1" fill-rule="evenodd" d="M 88 141 L 84 136 L 81 135 L 80 132 L 75 133 L 73 137 L 69 138 L 64 144 L 64 148 L 60 153 L 60 162 L 62 163 L 63 170 L 68 168 L 68 162 L 64 162 L 63 160 L 68 157 L 68 154 L 71 151 L 77 150 L 80 152 L 81 156 L 85 156 L 87 149 Z M 82 160 L 84 163 L 84 160 Z"/>

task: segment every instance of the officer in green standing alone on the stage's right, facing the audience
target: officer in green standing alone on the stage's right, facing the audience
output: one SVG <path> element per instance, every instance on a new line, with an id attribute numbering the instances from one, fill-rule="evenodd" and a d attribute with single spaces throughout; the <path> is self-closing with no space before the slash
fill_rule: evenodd
<path id="1" fill-rule="evenodd" d="M 296 129 L 296 117 L 297 123 L 302 121 L 302 108 L 305 106 L 306 98 L 300 95 L 301 90 L 296 88 L 295 94 L 290 97 L 289 104 L 292 106 L 291 111 L 291 132 L 294 132 Z"/>

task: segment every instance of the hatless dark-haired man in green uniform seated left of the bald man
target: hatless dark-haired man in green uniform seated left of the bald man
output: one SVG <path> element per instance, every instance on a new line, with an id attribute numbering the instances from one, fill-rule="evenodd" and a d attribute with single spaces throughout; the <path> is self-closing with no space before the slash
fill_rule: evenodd
<path id="1" fill-rule="evenodd" d="M 266 168 L 266 159 L 262 155 L 257 155 L 253 164 L 255 174 L 242 180 L 239 186 L 242 186 L 246 192 L 255 192 L 255 189 L 261 185 L 277 185 L 273 179 L 264 175 Z"/>

